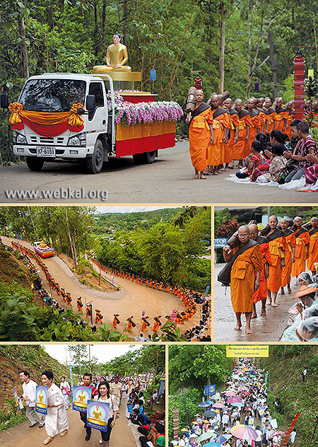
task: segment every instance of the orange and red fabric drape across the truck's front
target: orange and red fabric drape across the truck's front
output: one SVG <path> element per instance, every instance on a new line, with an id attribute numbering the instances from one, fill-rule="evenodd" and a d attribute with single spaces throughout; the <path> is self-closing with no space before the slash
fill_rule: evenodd
<path id="1" fill-rule="evenodd" d="M 69 112 L 34 112 L 23 110 L 20 103 L 11 103 L 8 107 L 11 115 L 9 122 L 12 129 L 23 129 L 23 123 L 42 137 L 57 137 L 69 129 L 71 132 L 81 132 L 84 128 L 83 118 L 77 115 L 81 103 L 73 104 Z"/>

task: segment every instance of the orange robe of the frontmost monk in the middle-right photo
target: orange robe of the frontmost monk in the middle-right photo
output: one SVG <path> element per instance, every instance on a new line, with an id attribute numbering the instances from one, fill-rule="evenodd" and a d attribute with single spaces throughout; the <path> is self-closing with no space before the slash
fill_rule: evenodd
<path id="1" fill-rule="evenodd" d="M 233 255 L 239 247 L 233 250 Z M 260 246 L 248 248 L 234 261 L 231 269 L 231 301 L 235 313 L 253 311 L 255 270 L 261 272 L 263 257 Z"/>

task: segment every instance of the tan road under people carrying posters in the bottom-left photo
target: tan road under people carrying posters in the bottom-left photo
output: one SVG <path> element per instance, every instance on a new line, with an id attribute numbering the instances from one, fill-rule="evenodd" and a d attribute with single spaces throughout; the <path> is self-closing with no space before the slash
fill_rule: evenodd
<path id="1" fill-rule="evenodd" d="M 110 435 L 111 445 L 114 447 L 129 446 L 139 447 L 140 443 L 136 442 L 138 431 L 135 427 L 131 427 L 131 422 L 128 421 L 125 415 L 126 402 L 122 402 L 119 408 L 120 417 L 117 419 L 112 434 Z M 54 447 L 92 447 L 100 446 L 98 440 L 100 439 L 100 432 L 92 430 L 90 441 L 85 441 L 86 431 L 84 424 L 81 422 L 78 412 L 71 410 L 67 411 L 69 418 L 69 432 L 65 436 L 55 436 L 54 441 L 49 443 L 49 446 Z M 32 429 L 29 428 L 29 422 L 23 422 L 18 426 L 13 427 L 0 433 L 0 446 L 2 447 L 40 447 L 43 446 L 43 441 L 47 438 L 45 427 L 39 429 L 36 425 Z"/>

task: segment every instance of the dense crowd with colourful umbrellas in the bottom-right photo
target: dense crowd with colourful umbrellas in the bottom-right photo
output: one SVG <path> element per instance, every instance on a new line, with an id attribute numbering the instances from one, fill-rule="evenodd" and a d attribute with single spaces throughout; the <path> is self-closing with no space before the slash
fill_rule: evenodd
<path id="1" fill-rule="evenodd" d="M 201 413 L 193 417 L 192 425 L 184 427 L 178 440 L 170 447 L 204 446 L 211 441 L 226 447 L 280 447 L 283 431 L 278 430 L 267 402 L 266 375 L 250 361 L 240 359 L 225 383 L 225 390 L 201 402 Z M 279 398 L 274 407 L 283 412 Z M 246 428 L 248 439 L 245 439 Z M 296 432 L 290 436 L 295 440 Z"/>

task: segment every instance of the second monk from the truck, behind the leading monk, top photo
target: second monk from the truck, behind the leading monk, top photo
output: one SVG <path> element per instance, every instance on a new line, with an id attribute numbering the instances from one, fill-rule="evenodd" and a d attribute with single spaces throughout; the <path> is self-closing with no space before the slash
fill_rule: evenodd
<path id="1" fill-rule="evenodd" d="M 230 118 L 228 117 L 228 109 L 220 107 L 218 95 L 211 96 L 211 103 L 214 141 L 211 146 L 208 146 L 208 172 L 218 175 L 218 170 L 220 170 L 224 158 L 224 144 L 228 141 Z"/>

